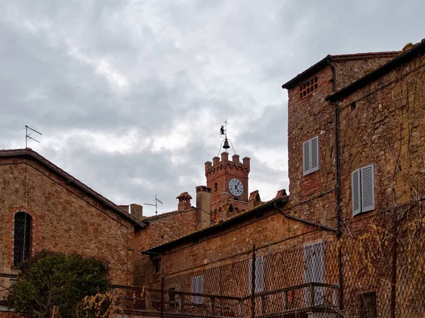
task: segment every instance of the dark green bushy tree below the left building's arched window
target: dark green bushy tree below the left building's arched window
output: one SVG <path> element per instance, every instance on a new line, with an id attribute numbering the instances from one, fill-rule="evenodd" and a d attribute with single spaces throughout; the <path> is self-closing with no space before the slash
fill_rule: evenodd
<path id="1" fill-rule="evenodd" d="M 21 264 L 8 302 L 26 317 L 75 317 L 79 302 L 103 293 L 108 284 L 108 266 L 102 261 L 43 251 Z"/>

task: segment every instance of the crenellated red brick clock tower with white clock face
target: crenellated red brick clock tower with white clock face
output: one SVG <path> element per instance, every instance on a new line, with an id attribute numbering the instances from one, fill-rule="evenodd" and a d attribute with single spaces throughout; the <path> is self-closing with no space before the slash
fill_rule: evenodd
<path id="1" fill-rule="evenodd" d="M 237 154 L 229 160 L 229 153 L 223 152 L 221 159 L 214 157 L 205 163 L 207 187 L 211 189 L 211 218 L 215 222 L 246 210 L 250 160 L 245 157 L 241 163 Z"/>

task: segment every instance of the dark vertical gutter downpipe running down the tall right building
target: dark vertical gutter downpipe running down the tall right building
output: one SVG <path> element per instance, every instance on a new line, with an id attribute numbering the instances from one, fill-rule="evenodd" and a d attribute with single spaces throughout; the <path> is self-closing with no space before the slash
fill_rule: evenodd
<path id="1" fill-rule="evenodd" d="M 333 77 L 333 90 L 336 92 L 336 69 L 331 63 L 331 59 L 327 60 L 329 66 L 332 69 Z M 336 241 L 339 242 L 341 239 L 341 199 L 339 196 L 339 188 L 341 184 L 341 170 L 339 161 L 339 103 L 331 102 L 334 106 L 334 152 L 335 152 L 335 216 L 336 216 Z M 342 276 L 342 256 L 341 256 L 341 245 L 338 246 L 338 281 L 339 281 L 339 311 L 344 310 L 344 290 L 343 290 L 343 276 Z"/>

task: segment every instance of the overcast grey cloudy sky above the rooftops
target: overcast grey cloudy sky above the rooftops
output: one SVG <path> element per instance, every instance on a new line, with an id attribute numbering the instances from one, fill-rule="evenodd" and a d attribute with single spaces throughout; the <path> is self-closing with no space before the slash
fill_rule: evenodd
<path id="1" fill-rule="evenodd" d="M 350 2 L 350 4 L 348 4 Z M 0 0 L 0 148 L 28 146 L 117 204 L 205 184 L 227 119 L 249 191 L 288 189 L 287 93 L 327 54 L 425 37 L 425 1 Z M 154 208 L 145 206 L 145 215 Z"/>

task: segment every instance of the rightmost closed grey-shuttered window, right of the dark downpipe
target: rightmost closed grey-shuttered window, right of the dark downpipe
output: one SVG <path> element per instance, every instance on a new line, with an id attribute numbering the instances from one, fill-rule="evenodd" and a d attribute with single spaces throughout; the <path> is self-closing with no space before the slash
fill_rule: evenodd
<path id="1" fill-rule="evenodd" d="M 353 216 L 375 210 L 375 172 L 366 165 L 351 173 Z"/>

